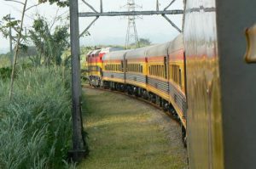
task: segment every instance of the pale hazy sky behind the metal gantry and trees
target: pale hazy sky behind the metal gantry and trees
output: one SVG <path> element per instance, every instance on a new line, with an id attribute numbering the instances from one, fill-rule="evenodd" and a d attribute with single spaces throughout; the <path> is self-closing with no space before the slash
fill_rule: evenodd
<path id="1" fill-rule="evenodd" d="M 17 0 L 24 2 L 24 0 Z M 166 8 L 172 0 L 159 0 L 160 9 Z M 86 0 L 91 6 L 99 11 L 100 0 Z M 102 0 L 103 11 L 125 11 L 125 4 L 127 0 Z M 37 4 L 36 0 L 28 0 L 27 7 Z M 136 10 L 155 10 L 156 0 L 135 0 L 138 8 Z M 183 0 L 176 0 L 168 9 L 183 9 Z M 22 5 L 9 1 L 0 0 L 0 19 L 6 14 L 11 14 L 15 19 L 20 20 Z M 31 8 L 26 11 L 24 25 L 29 30 L 32 26 L 32 21 L 36 18 L 37 14 L 43 15 L 51 23 L 55 15 L 61 15 L 64 20 L 57 22 L 55 25 L 69 23 L 67 14 L 69 8 L 58 8 L 56 5 L 49 5 L 49 3 L 40 4 L 37 7 Z M 81 0 L 79 0 L 79 12 L 92 12 Z M 182 27 L 183 15 L 167 15 L 180 29 Z M 79 18 L 79 31 L 82 32 L 90 24 L 94 18 Z M 127 31 L 128 21 L 124 16 L 117 17 L 100 17 L 90 27 L 90 36 L 80 38 L 81 46 L 96 46 L 104 45 L 125 45 L 125 36 Z M 150 42 L 160 43 L 171 41 L 176 37 L 179 32 L 172 27 L 160 15 L 137 17 L 137 34 L 139 38 L 148 38 Z M 5 39 L 0 33 L 0 53 L 8 52 L 9 39 Z"/>

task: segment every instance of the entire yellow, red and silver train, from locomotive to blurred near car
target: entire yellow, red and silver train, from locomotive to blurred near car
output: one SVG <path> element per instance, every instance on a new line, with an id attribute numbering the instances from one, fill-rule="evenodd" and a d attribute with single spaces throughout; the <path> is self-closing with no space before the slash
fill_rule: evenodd
<path id="1" fill-rule="evenodd" d="M 149 99 L 177 116 L 189 168 L 255 168 L 255 6 L 184 0 L 182 34 L 104 54 L 90 84 Z"/>

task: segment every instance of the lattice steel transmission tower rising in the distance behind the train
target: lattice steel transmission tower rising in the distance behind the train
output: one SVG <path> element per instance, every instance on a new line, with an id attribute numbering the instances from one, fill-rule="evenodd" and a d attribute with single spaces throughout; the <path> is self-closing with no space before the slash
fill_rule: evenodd
<path id="1" fill-rule="evenodd" d="M 134 3 L 134 0 L 127 0 L 128 12 L 134 12 L 135 5 L 136 4 Z M 140 44 L 139 44 L 138 37 L 137 37 L 137 27 L 136 27 L 134 15 L 128 16 L 128 26 L 127 26 L 126 38 L 125 38 L 125 48 L 129 47 L 131 38 L 133 38 L 133 40 L 136 44 L 136 47 L 139 48 Z"/>

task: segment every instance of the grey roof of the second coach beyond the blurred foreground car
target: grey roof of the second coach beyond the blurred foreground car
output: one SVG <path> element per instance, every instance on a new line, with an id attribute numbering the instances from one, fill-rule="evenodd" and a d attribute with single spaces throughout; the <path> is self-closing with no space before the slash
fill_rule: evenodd
<path id="1" fill-rule="evenodd" d="M 163 56 L 167 54 L 167 48 L 171 42 L 165 42 L 148 48 L 147 57 Z"/>

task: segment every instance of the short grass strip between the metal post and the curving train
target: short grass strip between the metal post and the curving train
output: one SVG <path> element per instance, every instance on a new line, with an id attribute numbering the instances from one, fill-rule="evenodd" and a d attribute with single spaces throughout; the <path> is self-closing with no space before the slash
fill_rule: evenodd
<path id="1" fill-rule="evenodd" d="M 180 128 L 160 110 L 116 93 L 85 89 L 86 169 L 186 168 Z"/>

